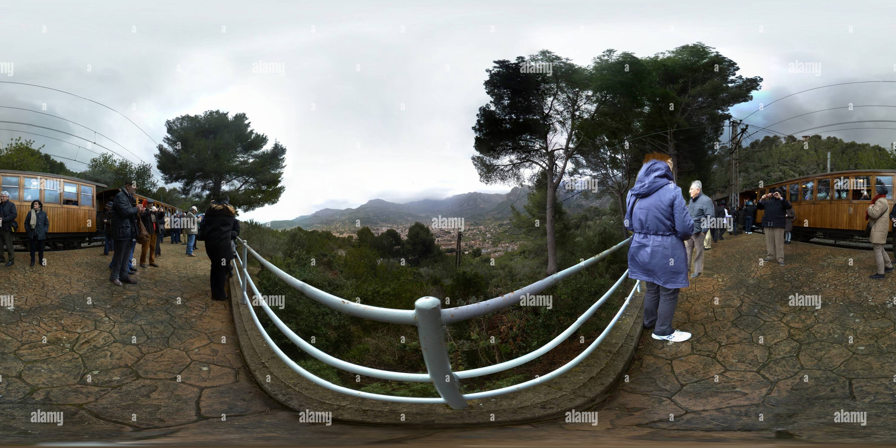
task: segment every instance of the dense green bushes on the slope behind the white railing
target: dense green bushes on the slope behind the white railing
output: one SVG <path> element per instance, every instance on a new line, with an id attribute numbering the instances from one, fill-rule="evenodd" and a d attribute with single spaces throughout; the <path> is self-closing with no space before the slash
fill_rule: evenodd
<path id="1" fill-rule="evenodd" d="M 618 243 L 618 222 L 605 218 L 609 211 L 590 209 L 573 217 L 564 244 L 559 245 L 562 268 L 579 263 Z M 406 247 L 401 237 L 366 236 L 358 240 L 334 237 L 330 232 L 292 228 L 276 231 L 247 223 L 244 235 L 259 254 L 298 280 L 347 300 L 371 306 L 413 309 L 419 297 L 432 296 L 443 300 L 444 307 L 462 306 L 492 297 L 503 296 L 534 281 L 543 274 L 543 254 L 538 235 L 524 242 L 521 250 L 504 254 L 490 263 L 487 257 L 461 258 L 455 268 L 453 256 L 433 253 L 418 256 L 417 262 L 405 263 L 401 257 L 383 258 L 384 252 L 398 253 Z M 428 241 L 418 228 L 419 241 Z M 388 244 L 383 245 L 383 240 Z M 422 246 L 421 246 L 422 247 Z M 543 246 L 542 246 L 543 247 Z M 401 249 L 405 250 L 405 249 Z M 419 249 L 418 250 L 423 250 Z M 426 249 L 428 250 L 428 249 Z M 489 366 L 517 358 L 541 347 L 563 332 L 591 306 L 625 271 L 625 250 L 607 257 L 586 271 L 561 281 L 555 287 L 538 293 L 552 298 L 552 306 L 511 306 L 497 313 L 447 327 L 446 341 L 452 367 L 466 370 Z M 284 309 L 274 309 L 280 319 L 300 337 L 318 349 L 351 363 L 399 372 L 426 372 L 419 349 L 417 329 L 413 326 L 376 323 L 342 314 L 323 306 L 289 287 L 270 271 L 255 275 L 259 290 L 265 295 L 286 297 Z M 625 285 L 629 285 L 627 288 Z M 547 373 L 584 349 L 579 336 L 593 340 L 612 318 L 631 282 L 611 297 L 590 319 L 582 331 L 574 333 L 573 342 L 561 354 L 538 359 L 507 372 L 465 381 L 464 392 L 488 390 L 520 383 Z M 624 291 L 623 291 L 624 290 Z M 387 382 L 374 378 L 358 378 L 310 358 L 297 349 L 262 313 L 262 322 L 271 337 L 290 357 L 297 359 L 315 375 L 366 392 L 401 396 L 437 396 L 428 383 Z M 571 340 L 573 339 L 571 338 Z M 559 357 L 559 358 L 558 358 Z M 565 358 L 564 358 L 565 357 Z M 558 360 L 559 359 L 559 360 Z M 565 361 L 563 361 L 565 362 Z M 356 379 L 361 380 L 360 382 Z M 333 381 L 337 383 L 337 381 Z"/>

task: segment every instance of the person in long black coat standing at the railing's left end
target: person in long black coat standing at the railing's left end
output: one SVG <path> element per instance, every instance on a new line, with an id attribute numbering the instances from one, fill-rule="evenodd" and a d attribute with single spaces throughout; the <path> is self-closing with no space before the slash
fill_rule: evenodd
<path id="1" fill-rule="evenodd" d="M 230 262 L 233 261 L 233 240 L 239 235 L 239 220 L 237 211 L 230 205 L 230 198 L 224 197 L 220 201 L 211 202 L 211 207 L 205 211 L 202 227 L 199 229 L 200 239 L 205 241 L 205 254 L 211 260 L 211 298 L 214 300 L 227 300 L 225 291 Z"/>

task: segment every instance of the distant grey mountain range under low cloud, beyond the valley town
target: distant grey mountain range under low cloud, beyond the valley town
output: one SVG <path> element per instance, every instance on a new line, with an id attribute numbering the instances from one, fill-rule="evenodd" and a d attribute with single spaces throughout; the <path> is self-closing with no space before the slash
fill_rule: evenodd
<path id="1" fill-rule="evenodd" d="M 529 201 L 530 185 L 514 186 L 506 194 L 478 193 L 455 194 L 445 199 L 424 199 L 422 201 L 395 203 L 382 199 L 371 199 L 355 209 L 323 209 L 314 211 L 310 215 L 299 216 L 294 220 L 271 221 L 271 228 L 316 228 L 331 226 L 335 223 L 348 223 L 354 225 L 356 220 L 361 221 L 362 226 L 377 227 L 384 224 L 411 224 L 420 221 L 429 224 L 433 218 L 441 215 L 448 218 L 463 218 L 468 224 L 472 220 L 506 219 L 511 216 L 509 205 L 517 210 Z M 559 200 L 569 197 L 569 192 L 564 189 L 557 190 Z M 516 201 L 516 202 L 514 202 Z M 583 194 L 564 202 L 567 210 L 583 209 L 589 205 L 597 204 L 594 196 L 586 197 Z"/>

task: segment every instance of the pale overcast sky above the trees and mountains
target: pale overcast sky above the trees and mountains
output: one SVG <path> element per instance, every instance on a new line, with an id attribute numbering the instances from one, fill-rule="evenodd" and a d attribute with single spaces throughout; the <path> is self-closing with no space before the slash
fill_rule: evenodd
<path id="1" fill-rule="evenodd" d="M 0 106 L 62 116 L 120 143 L 96 142 L 132 161 L 154 162 L 165 120 L 220 109 L 245 112 L 254 130 L 283 143 L 286 193 L 243 216 L 288 220 L 369 199 L 408 202 L 480 191 L 470 163 L 482 82 L 495 59 L 542 48 L 588 64 L 607 48 L 650 56 L 701 41 L 762 76 L 744 117 L 799 90 L 896 80 L 893 2 L 0 2 Z M 818 73 L 790 73 L 790 64 Z M 281 73 L 253 73 L 254 64 Z M 9 65 L 6 65 L 9 67 Z M 12 76 L 9 76 L 12 74 Z M 896 83 L 812 90 L 746 120 L 771 125 L 823 108 L 896 106 Z M 46 110 L 43 109 L 46 104 Z M 896 108 L 838 109 L 772 129 L 890 119 Z M 0 108 L 0 120 L 43 125 L 93 140 L 50 116 Z M 896 127 L 859 124 L 846 127 Z M 0 140 L 22 135 L 45 151 L 87 161 L 87 141 L 0 123 Z M 19 131 L 56 137 L 69 144 Z M 814 132 L 819 132 L 817 130 Z M 840 131 L 846 140 L 891 145 L 896 131 Z M 762 134 L 755 135 L 761 138 Z M 91 145 L 92 146 L 92 145 Z M 92 146 L 91 151 L 103 151 Z M 61 159 L 69 168 L 83 163 Z"/>

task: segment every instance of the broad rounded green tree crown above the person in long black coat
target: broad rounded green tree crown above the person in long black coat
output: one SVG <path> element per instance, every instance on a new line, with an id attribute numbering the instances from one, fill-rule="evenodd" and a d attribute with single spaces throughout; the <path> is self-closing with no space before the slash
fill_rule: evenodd
<path id="1" fill-rule="evenodd" d="M 250 126 L 246 114 L 220 110 L 166 121 L 168 135 L 156 154 L 162 179 L 180 183 L 185 195 L 229 195 L 242 211 L 279 201 L 286 147 L 275 141 L 265 149 L 268 137 Z"/>

